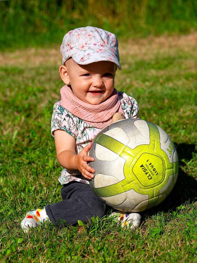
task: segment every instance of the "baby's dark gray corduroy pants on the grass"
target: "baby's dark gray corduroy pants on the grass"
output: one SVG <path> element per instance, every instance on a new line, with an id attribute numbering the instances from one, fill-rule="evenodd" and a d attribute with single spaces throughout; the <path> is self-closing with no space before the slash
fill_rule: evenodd
<path id="1" fill-rule="evenodd" d="M 94 193 L 89 184 L 70 182 L 61 188 L 63 201 L 46 205 L 45 210 L 54 225 L 65 220 L 69 225 L 77 220 L 87 222 L 92 216 L 101 218 L 105 215 L 106 205 Z"/>

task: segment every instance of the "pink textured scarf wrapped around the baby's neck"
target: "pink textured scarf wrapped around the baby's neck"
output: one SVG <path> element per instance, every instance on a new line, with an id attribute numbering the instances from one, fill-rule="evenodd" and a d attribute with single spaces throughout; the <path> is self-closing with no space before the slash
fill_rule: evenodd
<path id="1" fill-rule="evenodd" d="M 124 114 L 118 92 L 114 88 L 110 97 L 98 105 L 92 105 L 77 98 L 68 85 L 60 89 L 61 105 L 92 126 L 103 129 L 112 123 L 113 114 Z"/>

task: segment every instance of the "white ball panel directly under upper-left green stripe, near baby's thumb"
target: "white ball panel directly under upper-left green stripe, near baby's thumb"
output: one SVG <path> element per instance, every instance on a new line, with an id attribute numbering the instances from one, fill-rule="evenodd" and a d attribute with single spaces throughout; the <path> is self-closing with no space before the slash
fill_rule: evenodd
<path id="1" fill-rule="evenodd" d="M 107 149 L 106 147 L 96 144 L 95 147 L 95 155 L 98 160 L 101 161 L 115 161 L 119 155 L 114 153 L 113 151 Z"/>

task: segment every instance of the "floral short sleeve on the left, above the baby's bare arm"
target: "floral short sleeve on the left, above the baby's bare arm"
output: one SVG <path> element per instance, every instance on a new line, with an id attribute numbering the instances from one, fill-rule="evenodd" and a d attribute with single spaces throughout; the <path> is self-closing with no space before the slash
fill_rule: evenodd
<path id="1" fill-rule="evenodd" d="M 62 107 L 60 102 L 56 102 L 53 106 L 53 115 L 51 118 L 51 135 L 53 137 L 55 130 L 64 130 L 75 139 L 78 135 L 74 115 Z"/>

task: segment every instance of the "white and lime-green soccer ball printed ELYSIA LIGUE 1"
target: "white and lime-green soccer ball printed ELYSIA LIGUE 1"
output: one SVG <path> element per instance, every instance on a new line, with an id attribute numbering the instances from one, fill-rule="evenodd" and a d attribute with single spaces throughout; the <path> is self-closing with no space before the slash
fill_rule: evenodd
<path id="1" fill-rule="evenodd" d="M 161 203 L 178 175 L 178 155 L 167 133 L 140 119 L 108 125 L 92 141 L 91 188 L 112 208 L 139 212 Z"/>

